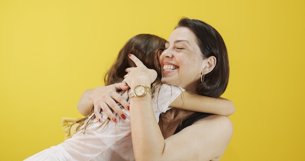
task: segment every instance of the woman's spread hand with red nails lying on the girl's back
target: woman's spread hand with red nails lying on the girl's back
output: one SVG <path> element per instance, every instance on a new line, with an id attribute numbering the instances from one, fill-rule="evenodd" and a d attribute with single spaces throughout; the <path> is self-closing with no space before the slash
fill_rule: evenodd
<path id="1" fill-rule="evenodd" d="M 113 109 L 118 116 L 125 119 L 126 116 L 122 109 L 117 105 L 119 102 L 125 109 L 129 110 L 129 103 L 124 99 L 117 90 L 127 90 L 129 87 L 125 83 L 115 83 L 107 86 L 100 86 L 94 89 L 90 96 L 90 99 L 94 103 L 94 113 L 97 121 L 101 121 L 102 117 L 100 115 L 101 109 L 105 114 L 113 121 L 116 121 L 114 113 L 110 110 Z M 116 102 L 115 102 L 116 101 Z"/>

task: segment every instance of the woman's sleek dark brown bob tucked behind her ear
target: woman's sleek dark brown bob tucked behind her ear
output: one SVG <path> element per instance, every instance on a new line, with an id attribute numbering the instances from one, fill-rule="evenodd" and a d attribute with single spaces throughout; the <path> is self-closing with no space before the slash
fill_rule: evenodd
<path id="1" fill-rule="evenodd" d="M 205 75 L 204 81 L 198 81 L 196 92 L 198 95 L 220 97 L 226 90 L 229 81 L 229 59 L 224 40 L 209 24 L 201 20 L 183 18 L 178 27 L 187 27 L 195 35 L 203 58 L 214 56 L 216 58 L 215 68 Z"/>

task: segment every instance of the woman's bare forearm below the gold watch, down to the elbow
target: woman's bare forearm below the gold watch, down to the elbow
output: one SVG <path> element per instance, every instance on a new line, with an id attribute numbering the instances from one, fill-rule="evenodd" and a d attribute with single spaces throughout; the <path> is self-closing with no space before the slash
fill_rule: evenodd
<path id="1" fill-rule="evenodd" d="M 137 161 L 156 160 L 165 141 L 153 114 L 151 95 L 132 98 L 130 106 L 134 157 Z"/>

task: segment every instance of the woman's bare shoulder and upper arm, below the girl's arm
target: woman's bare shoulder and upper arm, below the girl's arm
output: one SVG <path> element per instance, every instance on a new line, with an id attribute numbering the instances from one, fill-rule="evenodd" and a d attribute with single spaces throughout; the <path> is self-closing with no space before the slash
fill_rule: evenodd
<path id="1" fill-rule="evenodd" d="M 194 161 L 218 161 L 225 152 L 232 134 L 233 126 L 228 117 L 211 115 L 172 135 L 166 142 L 179 147 L 173 148 L 177 151 L 177 159 L 183 158 L 182 154 L 189 154 L 188 156 L 194 156 Z"/>

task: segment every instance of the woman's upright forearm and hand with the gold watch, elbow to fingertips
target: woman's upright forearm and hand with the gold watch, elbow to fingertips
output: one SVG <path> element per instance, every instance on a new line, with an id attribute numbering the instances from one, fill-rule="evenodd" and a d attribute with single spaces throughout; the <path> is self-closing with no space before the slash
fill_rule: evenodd
<path id="1" fill-rule="evenodd" d="M 132 54 L 129 55 L 129 58 L 133 60 L 137 67 L 125 70 L 129 72 L 129 75 L 125 77 L 123 82 L 126 82 L 131 90 L 139 84 L 151 87 L 152 82 L 157 77 L 156 71 L 146 68 Z M 142 91 L 143 89 L 138 88 L 137 90 Z M 159 161 L 165 147 L 165 141 L 153 113 L 151 93 L 148 92 L 143 97 L 131 98 L 130 121 L 135 160 Z"/>

